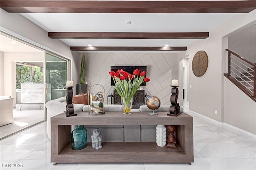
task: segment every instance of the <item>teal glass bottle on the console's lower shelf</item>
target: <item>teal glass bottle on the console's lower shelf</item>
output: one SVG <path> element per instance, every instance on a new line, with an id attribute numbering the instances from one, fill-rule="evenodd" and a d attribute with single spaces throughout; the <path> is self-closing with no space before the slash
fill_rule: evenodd
<path id="1" fill-rule="evenodd" d="M 72 149 L 80 150 L 87 146 L 87 130 L 83 125 L 78 125 L 76 129 L 72 131 Z"/>

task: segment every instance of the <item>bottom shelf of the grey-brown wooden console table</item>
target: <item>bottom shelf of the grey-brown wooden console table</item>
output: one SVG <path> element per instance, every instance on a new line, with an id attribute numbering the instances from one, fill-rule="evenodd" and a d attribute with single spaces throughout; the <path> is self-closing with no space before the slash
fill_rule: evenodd
<path id="1" fill-rule="evenodd" d="M 155 142 L 105 142 L 102 149 L 87 146 L 82 150 L 72 150 L 71 144 L 53 157 L 55 162 L 191 162 L 193 155 L 178 150 L 158 147 Z"/>

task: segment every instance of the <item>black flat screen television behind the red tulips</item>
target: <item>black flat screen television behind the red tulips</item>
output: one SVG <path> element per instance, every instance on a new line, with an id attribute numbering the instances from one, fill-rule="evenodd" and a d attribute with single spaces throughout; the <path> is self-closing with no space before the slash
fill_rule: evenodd
<path id="1" fill-rule="evenodd" d="M 116 72 L 118 69 L 123 69 L 124 71 L 130 74 L 133 74 L 133 70 L 135 70 L 136 68 L 138 68 L 140 72 L 142 71 L 147 72 L 147 66 L 110 66 L 110 70 L 113 70 L 114 72 Z M 145 74 L 144 77 L 147 77 L 147 74 Z M 115 85 L 114 80 L 111 77 L 111 86 L 114 86 L 114 85 Z M 141 86 L 146 86 L 146 82 L 143 82 Z"/>

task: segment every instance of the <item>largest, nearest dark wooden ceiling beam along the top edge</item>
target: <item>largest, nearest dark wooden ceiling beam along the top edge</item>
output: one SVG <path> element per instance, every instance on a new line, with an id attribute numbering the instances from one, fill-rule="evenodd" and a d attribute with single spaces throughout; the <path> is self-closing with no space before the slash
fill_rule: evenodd
<path id="1" fill-rule="evenodd" d="M 15 13 L 247 13 L 256 0 L 230 1 L 80 1 L 1 0 L 0 6 Z"/>

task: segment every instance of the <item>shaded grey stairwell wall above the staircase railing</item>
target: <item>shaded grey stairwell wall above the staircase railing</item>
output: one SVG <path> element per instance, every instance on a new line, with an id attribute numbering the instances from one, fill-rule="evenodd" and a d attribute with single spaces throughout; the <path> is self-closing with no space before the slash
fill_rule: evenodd
<path id="1" fill-rule="evenodd" d="M 228 49 L 256 63 L 256 25 L 228 37 Z"/>

